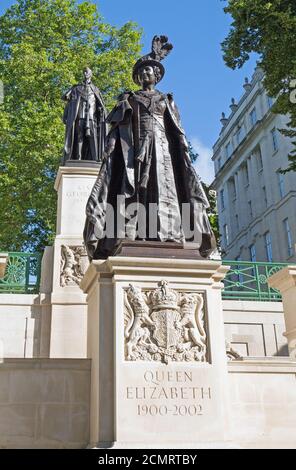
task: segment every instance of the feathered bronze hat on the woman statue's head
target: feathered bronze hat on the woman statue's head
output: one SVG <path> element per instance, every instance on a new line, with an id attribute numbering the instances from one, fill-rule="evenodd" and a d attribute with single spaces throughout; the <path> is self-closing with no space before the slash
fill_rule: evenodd
<path id="1" fill-rule="evenodd" d="M 141 85 L 138 79 L 138 71 L 145 65 L 156 66 L 160 70 L 160 78 L 158 82 L 163 79 L 165 68 L 160 62 L 163 60 L 173 49 L 173 45 L 168 42 L 167 36 L 154 36 L 152 40 L 152 50 L 149 54 L 141 57 L 134 65 L 133 80 L 137 85 Z"/>

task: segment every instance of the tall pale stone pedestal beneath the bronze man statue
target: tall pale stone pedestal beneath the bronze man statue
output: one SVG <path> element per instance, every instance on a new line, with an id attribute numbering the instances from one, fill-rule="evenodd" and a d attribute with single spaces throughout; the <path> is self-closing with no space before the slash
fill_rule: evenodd
<path id="1" fill-rule="evenodd" d="M 85 207 L 98 172 L 98 166 L 84 165 L 58 171 L 56 238 L 42 263 L 43 357 L 85 358 L 87 354 L 86 296 L 79 283 L 89 264 L 82 238 Z"/>

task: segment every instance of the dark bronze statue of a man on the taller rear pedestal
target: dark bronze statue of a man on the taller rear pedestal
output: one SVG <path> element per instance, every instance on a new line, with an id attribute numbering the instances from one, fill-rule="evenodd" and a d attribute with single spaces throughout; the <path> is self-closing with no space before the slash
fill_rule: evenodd
<path id="1" fill-rule="evenodd" d="M 86 67 L 84 81 L 64 94 L 67 102 L 63 121 L 66 125 L 64 163 L 68 160 L 101 161 L 106 137 L 106 109 L 100 90 L 92 83 L 92 71 Z"/>

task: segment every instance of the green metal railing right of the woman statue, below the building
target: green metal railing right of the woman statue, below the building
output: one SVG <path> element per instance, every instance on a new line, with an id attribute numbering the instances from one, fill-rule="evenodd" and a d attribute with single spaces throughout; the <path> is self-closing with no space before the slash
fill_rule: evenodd
<path id="1" fill-rule="evenodd" d="M 223 281 L 223 299 L 281 302 L 281 293 L 269 287 L 267 280 L 287 263 L 223 260 L 223 264 L 230 266 Z"/>

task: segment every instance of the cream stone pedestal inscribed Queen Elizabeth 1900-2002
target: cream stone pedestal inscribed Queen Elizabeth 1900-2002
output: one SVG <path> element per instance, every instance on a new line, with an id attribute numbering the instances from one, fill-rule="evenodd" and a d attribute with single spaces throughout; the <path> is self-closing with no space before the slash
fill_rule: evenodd
<path id="1" fill-rule="evenodd" d="M 81 283 L 91 446 L 227 446 L 226 272 L 217 261 L 120 256 L 91 263 Z"/>

